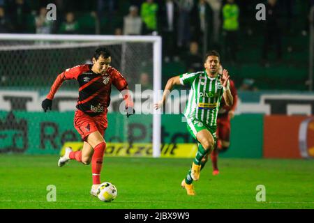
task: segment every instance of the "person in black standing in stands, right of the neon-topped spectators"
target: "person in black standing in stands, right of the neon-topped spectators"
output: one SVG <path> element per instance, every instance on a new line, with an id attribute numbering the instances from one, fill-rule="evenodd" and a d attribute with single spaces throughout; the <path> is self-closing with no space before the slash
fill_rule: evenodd
<path id="1" fill-rule="evenodd" d="M 279 25 L 279 8 L 276 5 L 276 0 L 268 0 L 266 6 L 265 28 L 264 28 L 264 45 L 262 47 L 262 63 L 264 66 L 269 66 L 267 56 L 269 47 L 274 45 L 276 48 L 277 62 L 281 61 L 281 27 Z"/>

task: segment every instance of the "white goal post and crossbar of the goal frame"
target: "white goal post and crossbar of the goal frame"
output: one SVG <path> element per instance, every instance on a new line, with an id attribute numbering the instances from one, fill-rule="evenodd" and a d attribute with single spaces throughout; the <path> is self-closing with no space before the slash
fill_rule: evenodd
<path id="1" fill-rule="evenodd" d="M 161 37 L 160 36 L 102 36 L 102 35 L 59 35 L 59 34 L 0 34 L 1 41 L 51 41 L 66 42 L 71 41 L 80 42 L 81 45 L 93 45 L 93 43 L 151 43 L 153 45 L 153 89 L 154 89 L 154 102 L 158 100 L 158 90 L 161 89 L 161 66 L 162 66 L 162 56 L 161 56 Z M 69 42 L 70 43 L 70 42 Z M 96 45 L 95 45 L 96 46 Z M 11 47 L 11 48 L 10 48 Z M 45 47 L 41 46 L 27 46 L 27 45 L 14 45 L 6 46 L 0 44 L 0 53 L 5 50 L 19 50 L 27 49 L 27 47 Z M 49 46 L 47 46 L 49 47 Z M 74 47 L 74 45 L 73 45 Z M 91 55 L 90 55 L 91 56 Z M 160 157 L 160 132 L 161 132 L 161 116 L 158 112 L 153 114 L 153 157 Z"/>

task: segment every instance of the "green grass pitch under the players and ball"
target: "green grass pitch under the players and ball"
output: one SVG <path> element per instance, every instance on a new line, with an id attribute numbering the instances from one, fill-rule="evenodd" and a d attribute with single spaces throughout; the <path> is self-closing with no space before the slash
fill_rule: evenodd
<path id="1" fill-rule="evenodd" d="M 220 159 L 194 183 L 197 195 L 181 189 L 192 159 L 105 157 L 102 182 L 117 186 L 117 199 L 103 203 L 89 195 L 91 165 L 71 160 L 57 167 L 57 155 L 0 155 L 0 208 L 314 208 L 314 160 Z M 57 201 L 48 202 L 48 185 Z M 257 185 L 266 201 L 257 202 Z"/>

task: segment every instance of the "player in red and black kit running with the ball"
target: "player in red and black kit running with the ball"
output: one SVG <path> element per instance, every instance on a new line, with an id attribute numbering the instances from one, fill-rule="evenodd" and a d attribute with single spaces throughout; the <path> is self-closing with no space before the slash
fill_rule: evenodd
<path id="1" fill-rule="evenodd" d="M 76 79 L 80 85 L 74 116 L 74 127 L 81 135 L 84 144 L 81 151 L 66 148 L 66 153 L 60 157 L 58 166 L 62 167 L 68 160 L 77 160 L 82 164 L 91 162 L 93 185 L 91 194 L 96 196 L 100 185 L 100 171 L 103 167 L 103 155 L 106 142 L 103 137 L 107 128 L 107 107 L 110 105 L 111 87 L 114 85 L 123 95 L 126 102 L 126 115 L 135 111 L 133 100 L 128 92 L 128 83 L 121 73 L 110 66 L 111 55 L 105 48 L 98 48 L 93 56 L 93 64 L 83 64 L 67 69 L 58 75 L 52 84 L 50 93 L 42 102 L 46 112 L 51 110 L 54 94 L 61 84 L 70 79 Z"/>

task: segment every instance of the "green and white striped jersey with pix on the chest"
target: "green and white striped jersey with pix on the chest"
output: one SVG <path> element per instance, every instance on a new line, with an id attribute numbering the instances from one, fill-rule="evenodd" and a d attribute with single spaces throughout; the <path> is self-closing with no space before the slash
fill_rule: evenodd
<path id="1" fill-rule="evenodd" d="M 179 77 L 182 85 L 191 86 L 184 116 L 190 120 L 202 121 L 209 126 L 216 126 L 220 100 L 223 98 L 220 75 L 211 78 L 204 70 L 186 73 Z"/>

